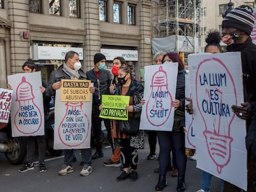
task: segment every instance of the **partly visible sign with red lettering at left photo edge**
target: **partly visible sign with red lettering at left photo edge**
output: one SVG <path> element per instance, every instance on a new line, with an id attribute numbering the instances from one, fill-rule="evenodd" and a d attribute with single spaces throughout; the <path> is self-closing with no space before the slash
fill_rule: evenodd
<path id="1" fill-rule="evenodd" d="M 12 102 L 12 90 L 0 88 L 0 122 L 8 123 Z"/>

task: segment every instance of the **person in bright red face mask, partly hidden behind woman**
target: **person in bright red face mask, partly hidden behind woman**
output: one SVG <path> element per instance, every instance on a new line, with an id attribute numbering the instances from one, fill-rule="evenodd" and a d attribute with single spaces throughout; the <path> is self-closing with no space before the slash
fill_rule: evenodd
<path id="1" fill-rule="evenodd" d="M 119 67 L 121 67 L 122 65 L 126 65 L 126 60 L 124 60 L 123 57 L 114 58 L 113 67 L 112 67 L 112 73 L 114 78 L 111 80 L 111 84 L 109 86 L 110 94 L 114 94 L 114 88 L 118 83 L 118 79 L 117 79 L 118 70 L 119 70 Z M 108 161 L 105 161 L 103 165 L 105 165 L 106 167 L 120 167 L 121 166 L 120 148 L 116 138 L 113 137 L 113 120 L 111 120 L 110 123 L 111 123 L 111 127 L 109 127 L 108 129 L 108 141 L 111 144 L 113 155 L 111 159 L 108 159 Z"/>

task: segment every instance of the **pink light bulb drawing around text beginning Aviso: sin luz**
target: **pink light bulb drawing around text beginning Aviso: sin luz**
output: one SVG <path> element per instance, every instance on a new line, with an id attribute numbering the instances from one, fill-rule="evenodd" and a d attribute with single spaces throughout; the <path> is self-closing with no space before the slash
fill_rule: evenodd
<path id="1" fill-rule="evenodd" d="M 66 102 L 66 114 L 58 128 L 59 139 L 69 147 L 82 144 L 88 137 L 89 119 L 82 110 L 83 102 Z"/>

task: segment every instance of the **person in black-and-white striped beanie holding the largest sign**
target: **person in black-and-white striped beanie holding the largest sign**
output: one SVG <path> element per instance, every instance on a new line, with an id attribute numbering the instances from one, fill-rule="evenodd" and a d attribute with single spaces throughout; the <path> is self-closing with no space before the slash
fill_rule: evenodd
<path id="1" fill-rule="evenodd" d="M 222 41 L 228 45 L 227 51 L 241 52 L 244 102 L 231 108 L 237 117 L 246 121 L 247 191 L 256 191 L 256 45 L 250 38 L 253 27 L 253 11 L 245 5 L 231 10 L 222 22 Z M 241 189 L 225 182 L 224 191 Z"/>

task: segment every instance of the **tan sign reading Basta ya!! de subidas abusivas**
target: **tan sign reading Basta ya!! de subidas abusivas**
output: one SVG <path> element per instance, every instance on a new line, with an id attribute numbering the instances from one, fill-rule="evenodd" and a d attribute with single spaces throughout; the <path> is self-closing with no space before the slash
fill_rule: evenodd
<path id="1" fill-rule="evenodd" d="M 90 80 L 61 80 L 61 101 L 90 101 Z"/>

